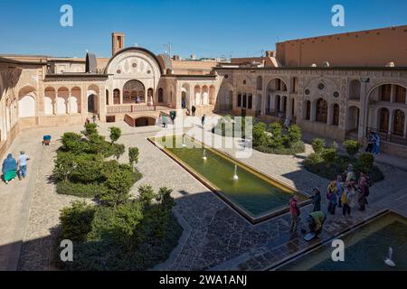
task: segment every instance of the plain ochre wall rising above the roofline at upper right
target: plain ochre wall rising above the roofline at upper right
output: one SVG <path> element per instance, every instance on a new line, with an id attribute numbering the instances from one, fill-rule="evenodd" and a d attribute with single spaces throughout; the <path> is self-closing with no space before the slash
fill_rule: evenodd
<path id="1" fill-rule="evenodd" d="M 279 42 L 284 66 L 384 67 L 390 61 L 407 67 L 407 25 Z M 296 65 L 297 64 L 297 65 Z"/>

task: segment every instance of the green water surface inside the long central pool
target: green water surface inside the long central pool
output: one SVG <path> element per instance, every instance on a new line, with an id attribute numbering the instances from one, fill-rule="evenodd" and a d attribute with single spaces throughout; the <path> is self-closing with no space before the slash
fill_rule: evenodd
<path id="1" fill-rule="evenodd" d="M 182 144 L 182 136 L 174 136 Z M 158 140 L 156 142 L 160 143 Z M 273 210 L 279 210 L 288 207 L 289 199 L 293 191 L 283 191 L 279 187 L 267 182 L 259 176 L 247 171 L 238 164 L 238 181 L 233 180 L 234 166 L 232 161 L 212 152 L 205 150 L 206 161 L 203 159 L 204 148 L 190 148 L 193 141 L 185 137 L 184 148 L 166 148 L 168 152 L 174 154 L 178 159 L 187 164 L 190 168 L 211 182 L 216 188 L 220 189 L 223 196 L 245 210 L 252 217 Z M 196 143 L 195 143 L 196 144 Z M 298 195 L 300 200 L 305 197 Z"/>

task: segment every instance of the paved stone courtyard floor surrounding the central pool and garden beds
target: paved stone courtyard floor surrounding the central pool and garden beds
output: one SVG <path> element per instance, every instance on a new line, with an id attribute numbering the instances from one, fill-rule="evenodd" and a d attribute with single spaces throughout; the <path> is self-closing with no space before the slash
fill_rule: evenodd
<path id="1" fill-rule="evenodd" d="M 111 124 L 101 124 L 100 132 L 108 135 L 109 126 Z M 386 179 L 372 188 L 368 209 L 364 213 L 355 211 L 347 219 L 340 217 L 339 213 L 328 216 L 321 238 L 311 244 L 305 243 L 300 233 L 289 234 L 288 214 L 255 226 L 248 223 L 147 141 L 147 136 L 155 135 L 159 127 L 134 128 L 123 122 L 114 126 L 123 131 L 119 143 L 137 146 L 140 150 L 137 168 L 144 177 L 132 192 L 137 194 L 141 183 L 151 183 L 156 189 L 166 186 L 174 190 L 175 215 L 185 230 L 166 263 L 156 266 L 159 270 L 267 269 L 380 210 L 393 209 L 407 215 L 407 172 L 380 164 Z M 35 128 L 14 140 L 10 151 L 17 154 L 24 149 L 32 156 L 32 161 L 26 180 L 14 181 L 7 186 L 0 184 L 0 270 L 52 270 L 52 242 L 59 224 L 59 212 L 78 198 L 56 194 L 48 178 L 52 173 L 55 151 L 60 145 L 57 139 L 65 131 L 80 131 L 81 128 Z M 201 129 L 195 127 L 193 131 L 201 132 Z M 44 134 L 52 135 L 52 145 L 41 145 Z M 239 145 L 234 149 L 223 149 L 232 155 L 239 150 Z M 254 151 L 251 158 L 241 161 L 300 191 L 309 192 L 314 187 L 325 191 L 327 180 L 301 168 L 300 163 L 309 152 L 309 146 L 305 154 L 297 156 Z M 127 157 L 124 154 L 120 161 L 127 162 Z M 325 203 L 323 208 L 326 208 Z M 307 210 L 310 210 L 309 206 L 303 210 L 302 216 L 307 215 Z"/>

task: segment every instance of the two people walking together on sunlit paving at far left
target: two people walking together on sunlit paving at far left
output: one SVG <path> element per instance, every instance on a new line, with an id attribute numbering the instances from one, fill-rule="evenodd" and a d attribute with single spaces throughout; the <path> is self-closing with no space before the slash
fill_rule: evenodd
<path id="1" fill-rule="evenodd" d="M 19 180 L 27 176 L 27 161 L 30 157 L 24 151 L 20 152 L 18 160 L 15 160 L 13 154 L 8 154 L 2 165 L 3 181 L 5 184 L 13 181 L 17 176 Z"/>

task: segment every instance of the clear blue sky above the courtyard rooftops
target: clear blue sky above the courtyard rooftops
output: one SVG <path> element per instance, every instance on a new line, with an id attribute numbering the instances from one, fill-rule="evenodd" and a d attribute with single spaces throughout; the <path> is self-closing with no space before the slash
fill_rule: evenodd
<path id="1" fill-rule="evenodd" d="M 73 27 L 60 8 L 73 7 Z M 331 24 L 331 8 L 345 7 L 345 27 Z M 110 56 L 110 33 L 126 46 L 156 53 L 173 43 L 187 57 L 244 57 L 275 42 L 407 24 L 405 0 L 14 0 L 2 1 L 0 53 Z M 6 12 L 6 13 L 5 13 Z"/>

